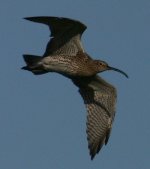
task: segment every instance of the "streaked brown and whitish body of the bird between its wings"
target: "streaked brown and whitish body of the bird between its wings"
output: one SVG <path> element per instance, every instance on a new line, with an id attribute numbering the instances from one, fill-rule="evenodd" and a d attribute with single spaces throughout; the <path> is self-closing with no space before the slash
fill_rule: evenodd
<path id="1" fill-rule="evenodd" d="M 99 69 L 101 69 L 97 60 L 93 60 L 86 53 L 80 52 L 75 57 L 66 55 L 50 55 L 43 58 L 25 55 L 25 57 L 25 60 L 30 58 L 39 59 L 38 64 L 32 65 L 32 72 L 34 74 L 57 72 L 70 77 L 88 77 L 97 74 Z"/>

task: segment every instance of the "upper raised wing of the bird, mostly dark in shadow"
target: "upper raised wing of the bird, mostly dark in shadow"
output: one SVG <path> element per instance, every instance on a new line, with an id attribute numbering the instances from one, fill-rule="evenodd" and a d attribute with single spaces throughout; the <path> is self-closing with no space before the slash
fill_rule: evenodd
<path id="1" fill-rule="evenodd" d="M 68 18 L 45 16 L 25 19 L 49 26 L 51 39 L 47 44 L 44 57 L 55 54 L 76 56 L 78 52 L 84 52 L 81 36 L 86 26 L 81 22 Z"/>

